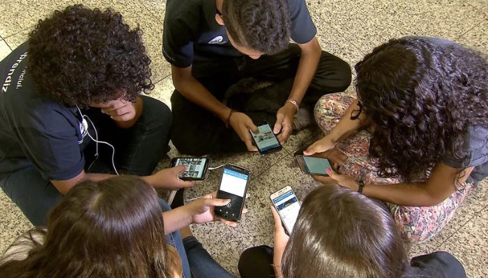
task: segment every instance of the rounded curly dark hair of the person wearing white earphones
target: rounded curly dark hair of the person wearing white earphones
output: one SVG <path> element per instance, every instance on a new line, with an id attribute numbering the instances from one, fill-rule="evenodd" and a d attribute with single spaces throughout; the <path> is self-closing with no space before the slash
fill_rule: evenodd
<path id="1" fill-rule="evenodd" d="M 108 101 L 121 89 L 135 102 L 154 87 L 141 36 L 114 10 L 68 6 L 29 34 L 28 72 L 41 95 L 66 106 Z"/>

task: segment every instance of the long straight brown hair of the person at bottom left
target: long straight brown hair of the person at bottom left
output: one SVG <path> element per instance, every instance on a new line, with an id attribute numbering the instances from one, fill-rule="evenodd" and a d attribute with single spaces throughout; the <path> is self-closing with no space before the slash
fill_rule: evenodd
<path id="1" fill-rule="evenodd" d="M 177 268 L 158 195 L 138 177 L 79 183 L 41 234 L 26 259 L 0 262 L 3 278 L 169 278 Z"/>

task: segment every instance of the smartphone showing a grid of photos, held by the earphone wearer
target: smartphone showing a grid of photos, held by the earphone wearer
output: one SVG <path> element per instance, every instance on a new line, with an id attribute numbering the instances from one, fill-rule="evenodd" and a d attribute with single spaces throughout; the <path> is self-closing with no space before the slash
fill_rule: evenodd
<path id="1" fill-rule="evenodd" d="M 185 172 L 180 174 L 180 179 L 183 181 L 203 181 L 208 177 L 208 166 L 211 163 L 211 158 L 206 157 L 176 157 L 171 159 L 169 167 L 187 165 Z"/>

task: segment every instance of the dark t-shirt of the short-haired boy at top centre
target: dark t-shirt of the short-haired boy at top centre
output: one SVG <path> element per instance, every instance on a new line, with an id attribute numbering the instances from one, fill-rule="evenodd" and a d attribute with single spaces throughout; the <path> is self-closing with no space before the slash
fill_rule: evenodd
<path id="1" fill-rule="evenodd" d="M 305 0 L 289 0 L 291 40 L 310 42 L 317 33 Z M 176 67 L 221 56 L 242 56 L 215 21 L 215 0 L 167 0 L 162 52 Z"/>

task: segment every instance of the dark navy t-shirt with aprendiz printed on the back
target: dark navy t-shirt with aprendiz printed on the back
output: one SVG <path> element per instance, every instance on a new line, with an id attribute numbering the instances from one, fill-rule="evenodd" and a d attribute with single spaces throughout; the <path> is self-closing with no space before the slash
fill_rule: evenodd
<path id="1" fill-rule="evenodd" d="M 77 108 L 38 94 L 27 49 L 25 42 L 0 63 L 0 174 L 34 165 L 45 179 L 71 179 L 83 170 L 90 139 Z"/>

